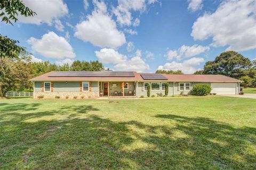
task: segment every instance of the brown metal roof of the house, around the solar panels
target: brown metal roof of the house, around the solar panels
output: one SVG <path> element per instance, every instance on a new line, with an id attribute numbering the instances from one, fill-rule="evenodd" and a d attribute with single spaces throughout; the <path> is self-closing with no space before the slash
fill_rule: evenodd
<path id="1" fill-rule="evenodd" d="M 133 71 L 134 77 L 70 77 L 70 76 L 59 76 L 59 77 L 52 77 L 52 75 L 56 75 L 58 72 L 61 71 L 51 71 L 43 74 L 41 76 L 35 77 L 30 79 L 30 81 L 49 81 L 49 82 L 76 82 L 76 81 L 100 81 L 100 82 L 118 82 L 118 81 L 125 81 L 125 82 L 150 82 L 150 80 L 143 80 L 141 74 Z M 145 73 L 144 73 L 145 74 Z M 223 75 L 166 75 L 162 74 L 167 80 L 154 80 L 154 81 L 161 81 L 161 82 L 242 82 L 241 80 L 223 76 Z M 153 81 L 153 80 L 151 80 Z"/>

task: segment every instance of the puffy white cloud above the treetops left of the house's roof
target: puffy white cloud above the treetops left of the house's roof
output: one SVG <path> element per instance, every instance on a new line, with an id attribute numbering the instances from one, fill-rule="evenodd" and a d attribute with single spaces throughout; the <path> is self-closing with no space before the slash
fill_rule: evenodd
<path id="1" fill-rule="evenodd" d="M 53 31 L 44 34 L 41 39 L 30 37 L 28 43 L 31 44 L 32 50 L 47 58 L 63 59 L 75 58 L 72 46 L 64 37 L 60 37 Z"/>

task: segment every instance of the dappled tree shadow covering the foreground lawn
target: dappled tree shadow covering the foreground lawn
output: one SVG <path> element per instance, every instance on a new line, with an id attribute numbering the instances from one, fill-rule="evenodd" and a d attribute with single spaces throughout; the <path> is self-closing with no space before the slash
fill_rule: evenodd
<path id="1" fill-rule="evenodd" d="M 27 107 L 33 111 L 36 106 L 31 106 Z M 61 114 L 78 115 L 99 109 L 71 106 L 61 110 Z M 256 166 L 255 128 L 234 128 L 207 118 L 177 115 L 152 117 L 159 121 L 170 119 L 175 126 L 147 125 L 134 120 L 113 122 L 91 114 L 85 118 L 73 115 L 63 120 L 24 121 L 53 116 L 58 111 L 25 115 L 15 112 L 16 119 L 12 122 L 2 120 L 0 168 L 253 169 Z M 7 118 L 7 114 L 13 113 L 1 116 Z"/>

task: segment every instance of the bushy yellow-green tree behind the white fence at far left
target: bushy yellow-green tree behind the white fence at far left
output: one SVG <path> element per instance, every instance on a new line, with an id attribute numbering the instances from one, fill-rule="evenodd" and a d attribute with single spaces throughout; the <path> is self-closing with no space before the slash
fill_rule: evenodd
<path id="1" fill-rule="evenodd" d="M 28 79 L 33 75 L 29 60 L 26 57 L 18 59 L 1 58 L 0 96 L 4 97 L 8 91 L 24 91 L 33 85 Z"/>

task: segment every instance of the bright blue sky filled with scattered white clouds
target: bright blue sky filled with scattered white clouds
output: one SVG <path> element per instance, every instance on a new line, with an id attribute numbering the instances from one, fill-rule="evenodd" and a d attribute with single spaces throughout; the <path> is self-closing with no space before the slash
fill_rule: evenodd
<path id="1" fill-rule="evenodd" d="M 33 61 L 99 60 L 115 71 L 193 74 L 221 52 L 256 59 L 256 1 L 23 0 L 37 13 L 1 22 Z"/>

